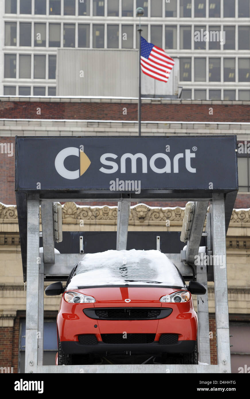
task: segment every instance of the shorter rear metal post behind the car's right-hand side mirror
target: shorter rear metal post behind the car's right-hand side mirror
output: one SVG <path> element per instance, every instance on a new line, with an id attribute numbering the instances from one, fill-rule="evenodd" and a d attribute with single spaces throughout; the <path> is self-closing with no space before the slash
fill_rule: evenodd
<path id="1" fill-rule="evenodd" d="M 197 282 L 203 284 L 207 289 L 207 266 L 196 266 Z M 208 292 L 205 295 L 197 295 L 198 314 L 198 352 L 201 363 L 211 364 L 210 342 L 209 342 L 209 308 Z"/>

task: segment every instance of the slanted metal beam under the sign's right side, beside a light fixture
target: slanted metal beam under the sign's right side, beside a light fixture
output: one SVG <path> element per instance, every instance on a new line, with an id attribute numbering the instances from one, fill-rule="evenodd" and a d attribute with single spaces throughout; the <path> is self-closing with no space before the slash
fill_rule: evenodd
<path id="1" fill-rule="evenodd" d="M 199 252 L 202 231 L 204 227 L 205 217 L 207 214 L 208 201 L 195 202 L 195 214 L 193 216 L 193 223 L 189 241 L 187 241 L 186 262 L 194 265 L 195 256 Z"/>

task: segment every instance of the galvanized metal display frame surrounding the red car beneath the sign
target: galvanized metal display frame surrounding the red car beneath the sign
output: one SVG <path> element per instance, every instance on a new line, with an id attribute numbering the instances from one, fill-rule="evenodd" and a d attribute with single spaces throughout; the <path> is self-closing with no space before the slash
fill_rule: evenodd
<path id="1" fill-rule="evenodd" d="M 213 138 L 212 138 L 213 139 Z M 180 138 L 182 140 L 182 138 Z M 236 169 L 237 174 L 237 169 Z M 16 191 L 20 243 L 24 280 L 27 280 L 26 302 L 26 373 L 230 373 L 230 342 L 228 319 L 228 288 L 226 269 L 226 231 L 228 229 L 237 190 L 151 190 L 140 196 L 132 193 L 47 192 Z M 208 293 L 197 298 L 198 310 L 198 365 L 43 365 L 43 295 L 44 279 L 69 275 L 73 265 L 83 254 L 55 254 L 53 239 L 53 202 L 59 201 L 114 201 L 118 202 L 117 249 L 126 249 L 130 202 L 140 201 L 195 201 L 195 213 L 186 251 L 165 254 L 179 268 L 182 275 L 195 273 L 198 282 L 207 287 L 208 280 L 215 282 L 215 319 L 217 336 L 217 365 L 210 364 Z M 210 203 L 209 212 L 207 207 Z M 39 210 L 41 205 L 43 254 L 39 253 Z M 205 219 L 206 232 L 203 232 Z M 138 232 L 140 234 L 140 232 Z M 223 259 L 222 265 L 195 266 L 201 236 L 207 236 L 207 249 L 214 257 Z M 27 252 L 26 252 L 27 251 Z M 27 257 L 27 262 L 26 262 Z M 39 259 L 39 261 L 37 261 Z M 190 267 L 191 266 L 191 267 Z M 211 272 L 213 269 L 213 273 Z M 213 276 L 213 277 L 211 277 Z"/>

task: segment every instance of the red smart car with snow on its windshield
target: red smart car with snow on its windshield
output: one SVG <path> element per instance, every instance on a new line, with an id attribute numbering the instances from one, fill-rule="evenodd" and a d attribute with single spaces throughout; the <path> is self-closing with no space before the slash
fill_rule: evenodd
<path id="1" fill-rule="evenodd" d="M 197 314 L 177 267 L 160 251 L 87 254 L 64 289 L 55 282 L 46 295 L 63 294 L 57 316 L 58 364 L 77 364 L 79 355 L 179 354 L 197 364 Z M 173 356 L 173 355 L 172 355 Z M 82 363 L 83 364 L 83 363 Z"/>

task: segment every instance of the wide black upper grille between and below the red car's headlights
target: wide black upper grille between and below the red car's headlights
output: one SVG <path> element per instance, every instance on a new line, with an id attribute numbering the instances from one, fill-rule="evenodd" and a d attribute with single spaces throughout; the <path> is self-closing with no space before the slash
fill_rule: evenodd
<path id="1" fill-rule="evenodd" d="M 154 320 L 163 319 L 172 312 L 171 308 L 92 308 L 83 309 L 86 316 L 101 320 Z"/>

